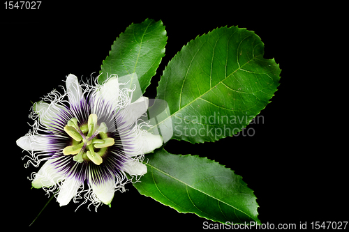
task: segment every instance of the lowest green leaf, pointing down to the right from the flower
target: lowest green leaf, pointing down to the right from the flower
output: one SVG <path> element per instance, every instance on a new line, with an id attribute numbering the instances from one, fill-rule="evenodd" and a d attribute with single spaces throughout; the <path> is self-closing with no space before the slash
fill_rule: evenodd
<path id="1" fill-rule="evenodd" d="M 140 194 L 217 222 L 260 223 L 253 191 L 231 169 L 206 157 L 172 155 L 163 148 L 144 161 L 148 171 L 133 184 Z"/>

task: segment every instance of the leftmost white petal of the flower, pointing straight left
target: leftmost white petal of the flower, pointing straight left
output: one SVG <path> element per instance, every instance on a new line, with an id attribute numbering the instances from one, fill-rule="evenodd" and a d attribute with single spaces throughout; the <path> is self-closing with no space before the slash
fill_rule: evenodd
<path id="1" fill-rule="evenodd" d="M 16 141 L 23 150 L 47 150 L 48 143 L 49 139 L 43 135 L 26 135 Z"/>

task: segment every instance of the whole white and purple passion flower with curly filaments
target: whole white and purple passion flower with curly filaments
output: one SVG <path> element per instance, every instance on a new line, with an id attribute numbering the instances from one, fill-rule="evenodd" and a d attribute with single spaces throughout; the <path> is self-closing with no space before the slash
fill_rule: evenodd
<path id="1" fill-rule="evenodd" d="M 31 107 L 32 130 L 17 140 L 30 153 L 24 167 L 45 161 L 31 174 L 32 186 L 47 193 L 58 190 L 60 206 L 77 202 L 82 194 L 82 203 L 110 204 L 114 192 L 124 192 L 131 181 L 126 173 L 136 178 L 147 173 L 144 154 L 163 144 L 161 135 L 144 130 L 151 125 L 138 119 L 149 102 L 142 96 L 131 102 L 136 85 L 125 87 L 117 75 L 101 85 L 97 79 L 79 84 L 68 75 L 63 95 L 54 90 Z"/>

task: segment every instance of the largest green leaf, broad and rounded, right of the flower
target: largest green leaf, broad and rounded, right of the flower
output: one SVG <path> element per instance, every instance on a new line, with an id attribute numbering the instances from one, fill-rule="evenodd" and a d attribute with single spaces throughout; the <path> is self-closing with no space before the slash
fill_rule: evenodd
<path id="1" fill-rule="evenodd" d="M 260 38 L 236 26 L 188 42 L 168 63 L 158 99 L 168 102 L 174 139 L 216 141 L 242 130 L 269 103 L 281 70 Z"/>

